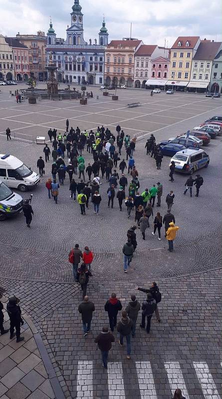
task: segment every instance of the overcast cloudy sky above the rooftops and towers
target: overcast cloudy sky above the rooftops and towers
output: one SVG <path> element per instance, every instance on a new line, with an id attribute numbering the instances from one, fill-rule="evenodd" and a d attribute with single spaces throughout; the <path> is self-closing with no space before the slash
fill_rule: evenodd
<path id="1" fill-rule="evenodd" d="M 0 33 L 14 36 L 47 32 L 49 15 L 57 37 L 66 37 L 74 0 L 4 0 L 0 7 Z M 145 44 L 171 47 L 177 36 L 201 36 L 222 41 L 222 2 L 219 0 L 80 0 L 84 39 L 98 39 L 105 14 L 109 40 L 130 35 Z"/>

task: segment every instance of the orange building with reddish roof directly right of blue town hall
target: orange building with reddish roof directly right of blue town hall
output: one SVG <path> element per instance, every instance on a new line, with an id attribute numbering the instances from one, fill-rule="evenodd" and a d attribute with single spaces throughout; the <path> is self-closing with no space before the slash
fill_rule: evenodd
<path id="1" fill-rule="evenodd" d="M 105 49 L 105 83 L 133 87 L 134 55 L 142 44 L 137 39 L 111 40 Z"/>

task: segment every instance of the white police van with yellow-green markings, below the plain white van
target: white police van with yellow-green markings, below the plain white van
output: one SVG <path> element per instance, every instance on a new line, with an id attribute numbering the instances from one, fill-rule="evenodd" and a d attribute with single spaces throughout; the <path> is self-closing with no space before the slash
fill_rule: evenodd
<path id="1" fill-rule="evenodd" d="M 23 200 L 0 180 L 0 221 L 22 211 Z"/>

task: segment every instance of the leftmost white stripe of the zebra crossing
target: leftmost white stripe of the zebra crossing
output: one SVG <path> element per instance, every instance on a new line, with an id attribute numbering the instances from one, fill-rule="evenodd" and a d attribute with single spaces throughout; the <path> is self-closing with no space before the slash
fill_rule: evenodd
<path id="1" fill-rule="evenodd" d="M 93 362 L 78 361 L 77 398 L 93 398 Z"/>

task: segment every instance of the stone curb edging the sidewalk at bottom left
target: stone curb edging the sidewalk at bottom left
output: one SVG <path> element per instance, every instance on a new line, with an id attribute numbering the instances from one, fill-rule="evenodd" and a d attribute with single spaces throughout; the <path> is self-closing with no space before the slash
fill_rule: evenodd
<path id="1" fill-rule="evenodd" d="M 22 314 L 22 317 L 25 320 L 25 322 L 27 323 L 28 327 L 30 328 L 30 330 L 33 334 L 35 343 L 36 343 L 39 353 L 41 355 L 42 362 L 43 362 L 45 370 L 48 374 L 48 379 L 51 383 L 53 392 L 55 394 L 55 399 L 65 399 L 65 396 L 61 389 L 59 381 L 56 377 L 54 368 L 52 366 L 52 363 L 51 363 L 48 353 L 45 349 L 45 346 L 44 346 L 44 343 L 42 341 L 40 334 L 38 333 L 36 327 L 34 326 L 33 322 L 31 321 L 31 319 L 25 313 Z"/>

